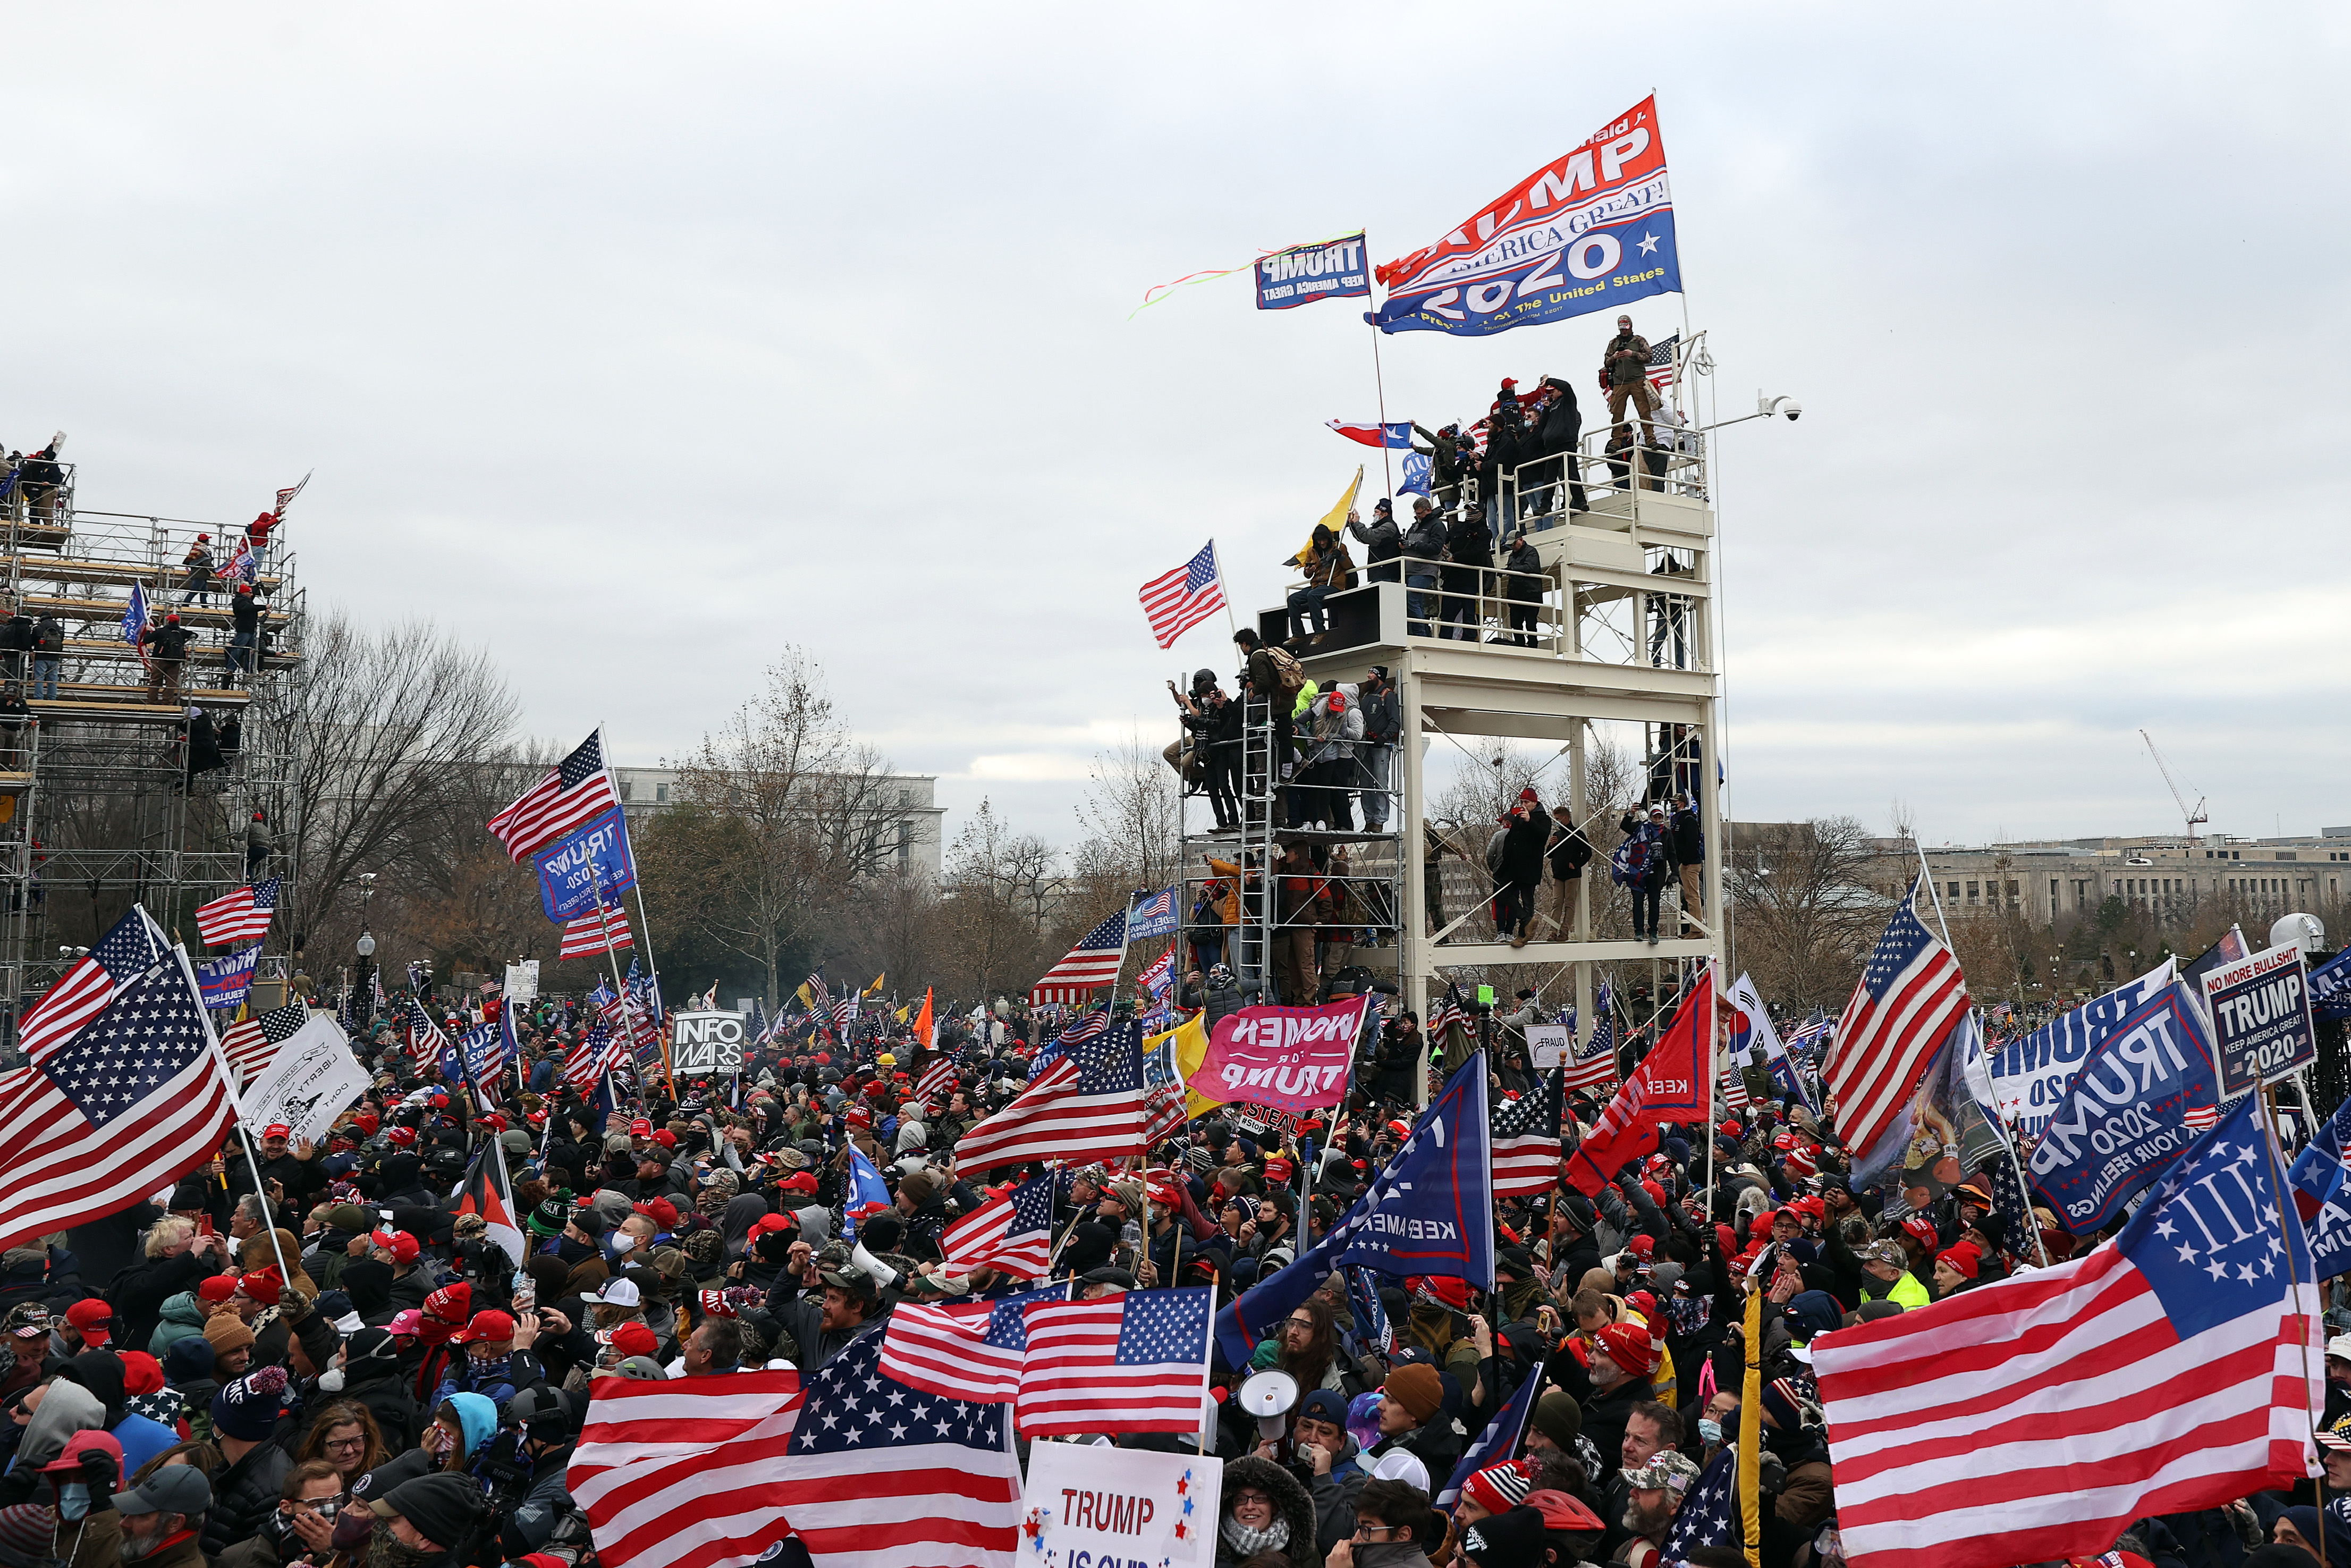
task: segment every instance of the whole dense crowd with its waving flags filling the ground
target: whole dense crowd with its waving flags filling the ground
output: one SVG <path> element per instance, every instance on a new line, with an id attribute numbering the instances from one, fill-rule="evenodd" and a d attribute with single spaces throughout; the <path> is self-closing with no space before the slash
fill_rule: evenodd
<path id="1" fill-rule="evenodd" d="M 1154 1093 L 1126 1004 L 811 976 L 677 1077 L 644 971 L 456 1001 L 214 1051 L 134 910 L 28 1020 L 0 1556 L 1009 1568 L 1067 1446 L 1215 1460 L 1204 1568 L 2351 1549 L 2342 1133 L 2288 1178 L 2245 1095 L 2095 1227 L 1909 1168 L 1982 1053 L 1909 905 L 1834 1025 L 1697 969 L 1535 1070 L 1451 992 L 1305 1117 Z"/>

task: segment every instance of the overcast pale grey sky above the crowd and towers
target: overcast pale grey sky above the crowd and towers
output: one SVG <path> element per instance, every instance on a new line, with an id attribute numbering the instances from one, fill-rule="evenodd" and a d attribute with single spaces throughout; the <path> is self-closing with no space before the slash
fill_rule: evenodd
<path id="1" fill-rule="evenodd" d="M 1074 837 L 1215 536 L 1244 611 L 1366 454 L 1354 308 L 1657 94 L 1719 437 L 1728 809 L 1921 835 L 2351 823 L 2339 7 L 66 7 L 9 26 L 5 440 L 287 527 L 658 762 L 783 644 L 957 813 Z M 1392 418 L 1601 317 L 1387 339 Z M 1378 470 L 1373 470 L 1373 487 Z M 1366 498 L 1378 494 L 1368 487 Z M 950 818 L 950 832 L 957 818 Z"/>

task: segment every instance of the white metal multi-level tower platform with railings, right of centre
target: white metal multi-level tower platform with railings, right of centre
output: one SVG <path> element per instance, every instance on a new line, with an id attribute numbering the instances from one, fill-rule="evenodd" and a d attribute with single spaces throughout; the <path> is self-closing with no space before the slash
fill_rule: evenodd
<path id="1" fill-rule="evenodd" d="M 1721 752 L 1716 541 L 1707 461 L 1695 437 L 1676 433 L 1657 437 L 1655 447 L 1641 447 L 1639 461 L 1627 463 L 1625 437 L 1615 435 L 1610 442 L 1613 435 L 1608 428 L 1594 430 L 1585 449 L 1566 461 L 1554 456 L 1505 475 L 1491 501 L 1476 494 L 1474 480 L 1439 494 L 1451 527 L 1486 529 L 1495 567 L 1413 557 L 1380 567 L 1359 562 L 1357 588 L 1321 597 L 1324 630 L 1293 625 L 1293 618 L 1312 625 L 1314 616 L 1314 607 L 1298 599 L 1265 609 L 1255 621 L 1258 635 L 1267 644 L 1288 646 L 1324 691 L 1361 682 L 1373 665 L 1385 668 L 1396 686 L 1401 743 L 1366 748 L 1385 755 L 1366 755 L 1368 766 L 1359 769 L 1364 783 L 1375 783 L 1392 797 L 1387 820 L 1404 827 L 1378 835 L 1378 849 L 1371 851 L 1392 903 L 1378 910 L 1378 922 L 1354 919 L 1359 910 L 1352 910 L 1342 924 L 1373 938 L 1371 952 L 1396 976 L 1404 1006 L 1422 1018 L 1429 994 L 1441 992 L 1448 980 L 1462 980 L 1469 994 L 1472 983 L 1495 969 L 1566 966 L 1575 976 L 1578 1034 L 1589 1039 L 1596 966 L 1648 961 L 1688 969 L 1723 952 L 1721 922 L 1709 917 L 1721 910 L 1723 875 L 1721 802 L 1709 762 Z M 1521 529 L 1533 545 L 1533 571 L 1509 571 L 1502 564 Z M 1302 588 L 1305 583 L 1293 585 Z M 1641 776 L 1634 780 L 1634 799 L 1592 804 L 1587 745 L 1594 724 L 1639 726 Z M 1244 748 L 1262 745 L 1255 733 L 1258 724 L 1251 722 Z M 1427 856 L 1425 752 L 1432 745 L 1491 738 L 1549 741 L 1561 748 L 1568 757 L 1566 799 L 1575 802 L 1575 825 L 1587 839 L 1601 811 L 1646 806 L 1681 790 L 1693 797 L 1704 835 L 1700 907 L 1683 914 L 1674 889 L 1662 898 L 1665 924 L 1674 924 L 1679 936 L 1636 940 L 1627 936 L 1622 912 L 1594 907 L 1613 893 L 1603 853 L 1575 882 L 1563 931 L 1549 917 L 1556 886 L 1549 872 L 1538 884 L 1538 912 L 1523 945 L 1500 940 L 1491 924 L 1498 889 L 1483 860 L 1462 867 L 1476 893 L 1467 910 L 1453 907 L 1453 896 L 1432 877 L 1439 867 Z M 1267 809 L 1274 809 L 1272 802 Z M 1458 825 L 1453 832 L 1465 839 L 1453 849 L 1474 853 L 1483 849 L 1493 823 Z M 1335 844 L 1364 837 L 1272 830 L 1262 835 L 1260 853 L 1274 853 L 1291 839 Z M 1199 856 L 1218 853 L 1232 863 L 1234 844 L 1248 844 L 1248 835 L 1187 830 L 1187 879 L 1194 889 Z M 1357 865 L 1354 872 L 1361 877 L 1373 865 Z M 1432 882 L 1439 884 L 1434 891 L 1444 896 L 1444 914 L 1451 919 L 1429 910 Z M 1258 926 L 1255 938 L 1246 931 L 1251 922 Z M 1279 922 L 1270 922 L 1258 905 L 1246 905 L 1241 926 L 1234 971 L 1258 978 L 1258 964 L 1279 947 Z M 1192 926 L 1187 936 L 1194 931 L 1211 940 L 1215 936 L 1206 926 Z M 1357 950 L 1354 961 L 1366 961 L 1364 950 Z"/>

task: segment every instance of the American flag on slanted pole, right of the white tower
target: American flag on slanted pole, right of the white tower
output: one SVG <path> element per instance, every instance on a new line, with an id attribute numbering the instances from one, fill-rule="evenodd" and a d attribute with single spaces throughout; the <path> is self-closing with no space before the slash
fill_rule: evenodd
<path id="1" fill-rule="evenodd" d="M 1846 1016 L 1836 1020 L 1827 1081 L 1836 1095 L 1836 1131 L 1855 1154 L 1855 1171 L 1886 1166 L 1888 1152 L 1878 1145 L 1900 1131 L 1918 1074 L 1965 1013 L 1968 983 L 1951 950 L 1918 919 L 1914 882 L 1886 922 Z"/>

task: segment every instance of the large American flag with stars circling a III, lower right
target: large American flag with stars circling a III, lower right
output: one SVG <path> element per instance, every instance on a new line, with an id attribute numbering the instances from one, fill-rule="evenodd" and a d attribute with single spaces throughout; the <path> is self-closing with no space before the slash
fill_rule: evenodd
<path id="1" fill-rule="evenodd" d="M 2097 1554 L 2316 1472 L 2318 1288 L 2259 1095 L 2085 1258 L 1813 1340 L 1853 1568 Z"/>

